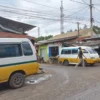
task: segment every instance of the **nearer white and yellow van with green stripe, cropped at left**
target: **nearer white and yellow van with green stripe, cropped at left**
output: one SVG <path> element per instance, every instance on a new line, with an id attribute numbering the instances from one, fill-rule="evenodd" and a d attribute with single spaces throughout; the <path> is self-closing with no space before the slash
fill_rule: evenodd
<path id="1" fill-rule="evenodd" d="M 25 76 L 39 70 L 36 50 L 27 38 L 0 38 L 0 83 L 11 88 L 24 85 Z"/>

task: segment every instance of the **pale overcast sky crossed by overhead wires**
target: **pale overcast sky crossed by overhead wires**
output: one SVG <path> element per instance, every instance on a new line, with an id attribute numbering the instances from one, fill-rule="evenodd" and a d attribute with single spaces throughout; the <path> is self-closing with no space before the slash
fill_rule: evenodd
<path id="1" fill-rule="evenodd" d="M 75 0 L 84 3 L 82 0 Z M 90 0 L 84 0 L 89 4 Z M 99 25 L 100 20 L 100 1 L 93 0 L 93 17 L 95 25 Z M 40 36 L 60 34 L 60 6 L 61 0 L 0 0 L 0 15 L 19 22 L 40 27 Z M 25 9 L 25 11 L 13 8 Z M 84 24 L 89 25 L 89 6 L 63 0 L 64 6 L 64 32 L 76 29 L 76 22 L 80 22 L 80 27 Z M 97 21 L 97 22 L 96 22 Z M 89 26 L 88 26 L 89 27 Z M 38 37 L 38 28 L 28 32 L 29 35 Z"/>

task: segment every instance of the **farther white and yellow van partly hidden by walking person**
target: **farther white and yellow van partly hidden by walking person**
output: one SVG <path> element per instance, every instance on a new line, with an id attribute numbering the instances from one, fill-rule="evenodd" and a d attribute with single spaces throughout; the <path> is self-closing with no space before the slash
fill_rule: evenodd
<path id="1" fill-rule="evenodd" d="M 98 62 L 99 55 L 95 50 L 93 50 L 91 47 L 87 46 L 80 46 L 82 48 L 84 56 L 87 58 L 84 58 L 85 64 L 94 65 Z M 64 65 L 69 64 L 77 64 L 79 62 L 78 57 L 78 46 L 77 47 L 64 47 L 61 49 L 60 55 L 59 55 L 59 62 L 63 63 Z"/>

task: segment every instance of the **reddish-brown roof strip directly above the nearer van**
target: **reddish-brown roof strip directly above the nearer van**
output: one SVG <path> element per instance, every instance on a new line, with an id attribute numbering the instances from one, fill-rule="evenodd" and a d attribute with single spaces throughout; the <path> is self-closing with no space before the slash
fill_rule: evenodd
<path id="1" fill-rule="evenodd" d="M 24 35 L 24 34 L 13 34 L 8 32 L 0 32 L 0 38 L 29 38 L 35 40 L 34 37 Z"/>

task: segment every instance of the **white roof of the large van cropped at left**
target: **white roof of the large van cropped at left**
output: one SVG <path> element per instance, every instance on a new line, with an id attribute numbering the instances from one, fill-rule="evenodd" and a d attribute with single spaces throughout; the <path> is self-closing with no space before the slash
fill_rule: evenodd
<path id="1" fill-rule="evenodd" d="M 22 42 L 30 41 L 28 38 L 0 38 L 0 42 Z"/>

